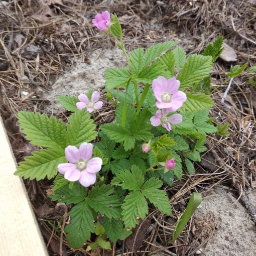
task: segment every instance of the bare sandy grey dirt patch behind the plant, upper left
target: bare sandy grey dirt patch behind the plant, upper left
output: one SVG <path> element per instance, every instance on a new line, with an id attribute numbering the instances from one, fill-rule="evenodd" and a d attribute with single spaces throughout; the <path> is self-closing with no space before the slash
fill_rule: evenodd
<path id="1" fill-rule="evenodd" d="M 106 68 L 118 68 L 125 65 L 123 53 L 119 48 L 98 49 L 88 56 L 86 61 L 74 58 L 72 65 L 61 74 L 52 87 L 43 93 L 43 97 L 52 102 L 48 112 L 56 113 L 61 107 L 56 96 L 78 96 L 89 89 L 104 88 Z"/>

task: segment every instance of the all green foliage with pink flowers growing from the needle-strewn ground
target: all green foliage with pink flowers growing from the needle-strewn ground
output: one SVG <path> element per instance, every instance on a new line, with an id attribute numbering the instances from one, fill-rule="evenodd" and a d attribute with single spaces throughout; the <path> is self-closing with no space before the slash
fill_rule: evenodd
<path id="1" fill-rule="evenodd" d="M 54 178 L 53 201 L 71 209 L 65 226 L 69 246 L 111 248 L 125 239 L 149 213 L 149 203 L 171 215 L 163 183 L 194 172 L 207 134 L 227 135 L 227 126 L 216 126 L 209 117 L 214 105 L 210 73 L 221 54 L 222 37 L 202 55 L 191 54 L 168 41 L 127 53 L 115 14 L 98 14 L 93 23 L 112 37 L 123 51 L 127 66 L 105 71 L 106 97 L 115 109 L 114 121 L 97 125 L 94 115 L 103 105 L 99 92 L 59 96 L 72 113 L 68 122 L 46 114 L 19 112 L 26 139 L 41 147 L 19 164 L 16 175 L 25 179 Z M 229 77 L 245 67 L 235 66 Z M 176 239 L 194 211 L 176 226 Z M 200 203 L 200 202 L 199 202 Z M 96 237 L 96 238 L 95 238 Z"/>

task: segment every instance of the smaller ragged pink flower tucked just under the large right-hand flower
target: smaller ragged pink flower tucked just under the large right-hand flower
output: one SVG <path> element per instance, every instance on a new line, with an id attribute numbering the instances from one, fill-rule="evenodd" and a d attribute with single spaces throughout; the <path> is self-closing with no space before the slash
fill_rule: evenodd
<path id="1" fill-rule="evenodd" d="M 182 122 L 181 114 L 173 114 L 167 117 L 169 111 L 167 109 L 158 109 L 156 114 L 150 118 L 151 124 L 153 126 L 162 126 L 170 132 L 172 130 L 171 124 L 176 124 Z"/>

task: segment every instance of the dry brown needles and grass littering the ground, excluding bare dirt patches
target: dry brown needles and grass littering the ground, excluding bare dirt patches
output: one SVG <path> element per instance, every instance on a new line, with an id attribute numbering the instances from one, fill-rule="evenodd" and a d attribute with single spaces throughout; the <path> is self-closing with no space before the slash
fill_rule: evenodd
<path id="1" fill-rule="evenodd" d="M 51 6 L 46 3 L 52 3 Z M 1 4 L 0 4 L 1 5 Z M 5 118 L 10 140 L 17 159 L 31 154 L 34 147 L 24 142 L 17 126 L 17 112 L 30 110 L 44 112 L 49 103 L 42 98 L 56 77 L 70 65 L 74 56 L 88 61 L 87 54 L 99 47 L 111 47 L 112 42 L 102 40 L 92 27 L 96 12 L 110 9 L 116 12 L 123 26 L 127 48 L 146 47 L 168 39 L 181 41 L 188 53 L 200 53 L 219 35 L 235 49 L 238 63 L 256 63 L 256 8 L 238 0 L 214 1 L 82 1 L 82 0 L 14 0 L 0 8 L 0 84 L 1 114 Z M 212 86 L 218 86 L 226 77 L 230 64 L 218 61 L 213 73 Z M 193 232 L 196 223 L 190 222 L 175 244 L 168 244 L 174 223 L 179 219 L 186 200 L 194 191 L 207 195 L 214 186 L 225 184 L 234 189 L 246 206 L 244 189 L 256 182 L 255 173 L 255 88 L 248 86 L 248 76 L 234 79 L 225 104 L 221 102 L 227 85 L 214 94 L 215 107 L 211 110 L 217 121 L 230 123 L 228 138 L 212 136 L 208 151 L 202 157 L 195 175 L 184 175 L 173 187 L 166 187 L 171 198 L 173 215 L 159 214 L 152 209 L 147 217 L 152 223 L 137 255 L 157 252 L 163 255 L 192 255 L 205 247 L 214 232 L 211 216 L 202 220 L 206 225 Z M 28 92 L 28 95 L 24 94 Z M 108 112 L 109 111 L 109 112 Z M 97 117 L 106 121 L 111 107 Z M 63 117 L 63 115 L 60 115 Z M 27 188 L 34 208 L 49 202 L 47 190 L 50 182 L 28 182 Z M 247 204 L 247 209 L 253 215 Z M 255 214 L 255 213 L 254 213 Z M 141 225 L 143 225 L 142 222 Z M 60 219 L 40 221 L 42 233 L 51 253 L 59 253 L 58 235 L 53 226 L 62 227 Z M 138 229 L 138 234 L 139 234 Z M 62 239 L 62 238 L 61 238 Z M 84 255 L 85 250 L 67 249 L 63 239 L 63 255 Z M 93 254 L 94 253 L 94 254 Z M 93 252 L 91 255 L 131 255 L 124 244 L 116 244 L 113 252 Z"/>

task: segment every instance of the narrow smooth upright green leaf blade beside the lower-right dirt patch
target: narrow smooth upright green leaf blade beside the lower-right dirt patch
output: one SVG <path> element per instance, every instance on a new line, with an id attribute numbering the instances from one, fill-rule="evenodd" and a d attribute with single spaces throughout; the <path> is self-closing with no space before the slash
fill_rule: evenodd
<path id="1" fill-rule="evenodd" d="M 175 229 L 173 231 L 173 237 L 172 237 L 171 241 L 168 241 L 169 243 L 175 241 L 179 237 L 181 231 L 184 229 L 184 227 L 188 223 L 189 219 L 193 215 L 194 211 L 196 210 L 198 205 L 201 203 L 201 200 L 202 200 L 202 195 L 199 193 L 193 192 L 193 194 L 188 202 L 187 208 L 185 209 L 180 220 L 178 220 L 175 225 Z"/>

